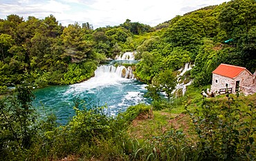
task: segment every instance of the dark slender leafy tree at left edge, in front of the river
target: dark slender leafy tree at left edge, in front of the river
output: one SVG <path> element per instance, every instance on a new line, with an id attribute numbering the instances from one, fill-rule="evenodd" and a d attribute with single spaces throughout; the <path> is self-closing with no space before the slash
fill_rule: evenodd
<path id="1" fill-rule="evenodd" d="M 31 89 L 21 85 L 17 86 L 17 95 L 0 100 L 0 151 L 6 160 L 18 160 L 17 156 L 32 145 L 35 133 L 33 98 Z"/>

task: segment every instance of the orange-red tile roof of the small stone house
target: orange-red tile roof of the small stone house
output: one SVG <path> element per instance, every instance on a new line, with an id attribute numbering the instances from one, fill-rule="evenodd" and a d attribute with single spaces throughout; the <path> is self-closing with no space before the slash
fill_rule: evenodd
<path id="1" fill-rule="evenodd" d="M 241 67 L 241 66 L 232 66 L 232 65 L 228 65 L 228 64 L 221 64 L 212 73 L 217 74 L 217 75 L 222 75 L 224 77 L 230 77 L 230 78 L 234 79 L 244 70 L 247 70 L 247 69 L 244 67 Z M 248 71 L 248 73 L 250 73 L 250 72 Z M 250 73 L 250 75 L 252 75 L 252 74 Z"/>

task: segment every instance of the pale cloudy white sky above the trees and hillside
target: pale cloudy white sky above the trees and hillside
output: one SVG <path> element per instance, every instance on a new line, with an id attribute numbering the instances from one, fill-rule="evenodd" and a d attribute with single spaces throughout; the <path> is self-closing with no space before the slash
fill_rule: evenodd
<path id="1" fill-rule="evenodd" d="M 93 28 L 118 26 L 126 19 L 156 26 L 176 15 L 229 0 L 0 0 L 0 19 L 15 14 L 44 19 L 53 15 L 62 26 L 89 22 Z"/>

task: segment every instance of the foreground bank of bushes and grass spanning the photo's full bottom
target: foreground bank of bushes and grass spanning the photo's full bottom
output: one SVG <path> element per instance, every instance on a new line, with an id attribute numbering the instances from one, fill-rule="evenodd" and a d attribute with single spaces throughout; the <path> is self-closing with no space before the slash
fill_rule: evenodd
<path id="1" fill-rule="evenodd" d="M 0 102 L 1 160 L 254 160 L 256 96 L 203 99 L 188 90 L 165 105 L 130 106 L 117 117 L 76 99 L 66 125 L 38 116 L 29 86 Z"/>

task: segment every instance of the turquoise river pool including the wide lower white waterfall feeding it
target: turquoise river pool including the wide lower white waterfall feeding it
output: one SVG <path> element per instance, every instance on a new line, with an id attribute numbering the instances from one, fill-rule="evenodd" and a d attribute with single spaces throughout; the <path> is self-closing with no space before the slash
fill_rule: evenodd
<path id="1" fill-rule="evenodd" d="M 145 84 L 136 79 L 124 78 L 131 77 L 126 68 L 129 75 L 123 75 L 124 68 L 102 65 L 95 70 L 95 77 L 80 84 L 37 89 L 34 92 L 36 99 L 33 105 L 40 115 L 55 113 L 57 121 L 66 124 L 75 115 L 73 106 L 76 98 L 84 100 L 88 107 L 107 105 L 106 113 L 109 115 L 117 115 L 128 106 L 147 104 L 149 100 L 143 97 L 146 93 Z"/>

